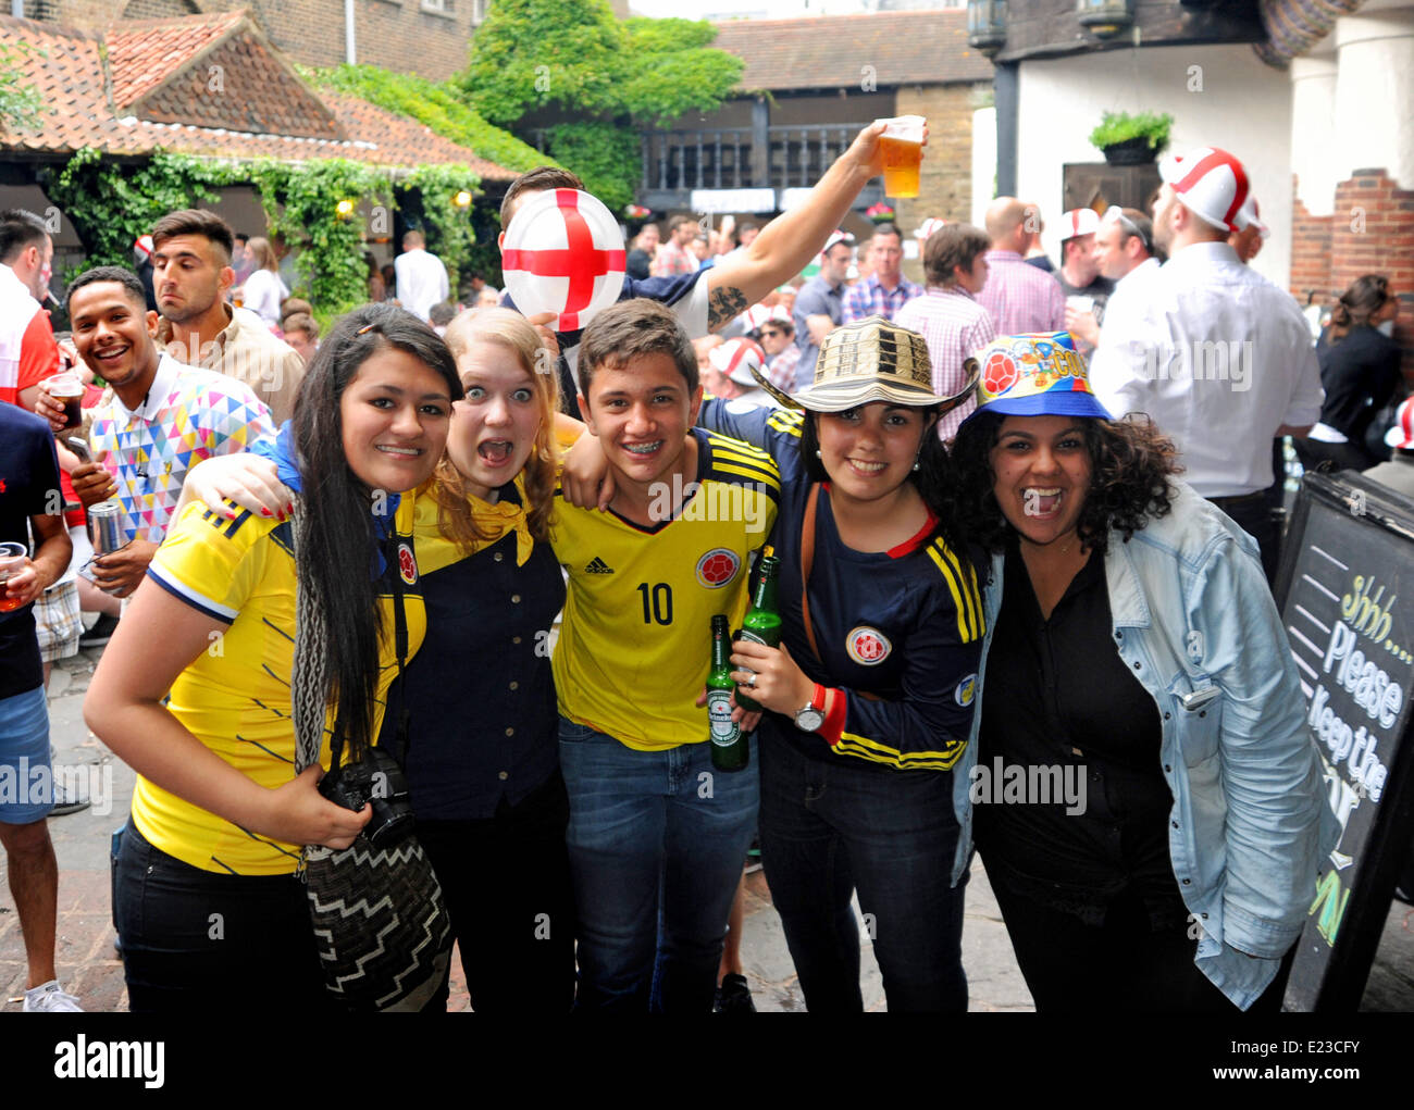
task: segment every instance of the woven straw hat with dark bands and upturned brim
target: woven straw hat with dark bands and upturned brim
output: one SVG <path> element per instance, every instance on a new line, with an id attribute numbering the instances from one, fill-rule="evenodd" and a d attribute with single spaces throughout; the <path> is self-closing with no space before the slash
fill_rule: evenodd
<path id="1" fill-rule="evenodd" d="M 976 366 L 969 368 L 967 383 L 952 396 L 935 393 L 928 342 L 916 331 L 877 315 L 839 327 L 824 337 L 814 363 L 814 382 L 795 395 L 776 389 L 752 369 L 756 383 L 783 406 L 812 413 L 843 413 L 875 400 L 923 409 L 937 406 L 946 413 L 971 396 L 977 373 Z"/>

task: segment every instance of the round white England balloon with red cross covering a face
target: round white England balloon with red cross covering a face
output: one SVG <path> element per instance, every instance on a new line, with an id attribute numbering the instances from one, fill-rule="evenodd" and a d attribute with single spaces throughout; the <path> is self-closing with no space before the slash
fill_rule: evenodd
<path id="1" fill-rule="evenodd" d="M 626 262 L 618 222 L 580 189 L 551 189 L 520 205 L 501 252 L 516 308 L 556 312 L 554 331 L 578 331 L 614 304 Z"/>

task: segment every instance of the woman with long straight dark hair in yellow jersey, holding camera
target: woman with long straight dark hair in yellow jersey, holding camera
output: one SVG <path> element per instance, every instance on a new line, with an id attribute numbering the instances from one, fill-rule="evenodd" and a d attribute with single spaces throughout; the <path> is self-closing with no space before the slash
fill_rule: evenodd
<path id="1" fill-rule="evenodd" d="M 301 493 L 298 544 L 287 520 L 194 503 L 153 559 L 83 706 L 139 772 L 115 891 L 132 1010 L 327 1005 L 300 846 L 348 847 L 369 812 L 325 800 L 318 766 L 294 775 L 290 676 L 320 653 L 311 696 L 351 754 L 368 748 L 396 670 L 390 576 L 409 652 L 424 626 L 407 493 L 431 477 L 461 396 L 427 325 L 392 305 L 349 314 L 277 444 Z"/>

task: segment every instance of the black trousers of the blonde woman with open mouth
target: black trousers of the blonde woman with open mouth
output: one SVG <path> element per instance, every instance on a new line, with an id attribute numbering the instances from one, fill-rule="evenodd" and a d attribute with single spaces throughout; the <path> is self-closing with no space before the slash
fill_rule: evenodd
<path id="1" fill-rule="evenodd" d="M 574 894 L 559 769 L 484 820 L 417 820 L 461 947 L 478 1014 L 567 1014 L 574 1001 Z M 423 1012 L 447 1010 L 448 983 Z"/>

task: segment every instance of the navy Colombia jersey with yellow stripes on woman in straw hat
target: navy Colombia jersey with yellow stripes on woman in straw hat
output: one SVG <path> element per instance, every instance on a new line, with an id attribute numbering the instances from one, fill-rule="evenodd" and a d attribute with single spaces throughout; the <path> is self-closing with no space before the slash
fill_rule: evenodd
<path id="1" fill-rule="evenodd" d="M 781 639 L 812 682 L 837 691 L 817 734 L 802 732 L 778 713 L 762 717 L 762 734 L 813 759 L 851 756 L 895 771 L 947 771 L 967 747 L 976 701 L 986 631 L 977 568 L 947 546 L 935 520 L 888 551 L 847 547 L 823 484 L 810 571 L 817 658 L 800 607 L 800 526 L 810 492 L 802 420 L 800 413 L 721 400 L 704 402 L 699 416 L 703 427 L 754 443 L 775 458 Z"/>

